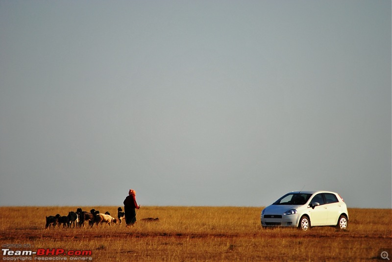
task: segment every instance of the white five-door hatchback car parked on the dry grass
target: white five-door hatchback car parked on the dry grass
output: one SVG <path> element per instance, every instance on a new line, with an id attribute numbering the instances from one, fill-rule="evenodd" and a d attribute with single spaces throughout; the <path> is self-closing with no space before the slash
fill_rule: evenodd
<path id="1" fill-rule="evenodd" d="M 348 212 L 338 193 L 294 191 L 263 209 L 260 218 L 263 228 L 287 226 L 306 231 L 314 226 L 336 226 L 346 229 Z"/>

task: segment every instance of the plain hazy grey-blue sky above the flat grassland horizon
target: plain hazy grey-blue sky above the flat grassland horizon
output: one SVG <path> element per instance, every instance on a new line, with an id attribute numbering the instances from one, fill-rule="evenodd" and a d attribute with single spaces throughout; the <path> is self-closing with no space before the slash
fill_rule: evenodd
<path id="1" fill-rule="evenodd" d="M 390 0 L 0 0 L 0 206 L 392 208 Z"/>

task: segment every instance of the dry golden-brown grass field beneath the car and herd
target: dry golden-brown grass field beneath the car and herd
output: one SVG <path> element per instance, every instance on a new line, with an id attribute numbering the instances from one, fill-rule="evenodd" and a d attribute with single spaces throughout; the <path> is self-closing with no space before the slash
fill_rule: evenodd
<path id="1" fill-rule="evenodd" d="M 9 256 L 0 259 L 47 261 L 369 261 L 381 248 L 392 248 L 391 209 L 349 209 L 346 231 L 332 227 L 302 232 L 262 229 L 261 207 L 141 207 L 134 227 L 50 228 L 45 216 L 77 207 L 0 207 L 0 243 L 10 250 L 89 251 L 85 256 Z M 109 211 L 117 207 L 91 208 Z M 159 222 L 142 218 L 159 217 Z M 26 247 L 23 247 L 26 245 Z M 390 254 L 391 256 L 391 254 Z"/>

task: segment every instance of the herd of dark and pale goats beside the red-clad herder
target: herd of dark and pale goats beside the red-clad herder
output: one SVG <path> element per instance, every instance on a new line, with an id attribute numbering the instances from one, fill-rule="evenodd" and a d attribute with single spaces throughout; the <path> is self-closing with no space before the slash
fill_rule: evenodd
<path id="1" fill-rule="evenodd" d="M 60 214 L 56 214 L 54 216 L 53 215 L 46 216 L 45 229 L 49 229 L 50 226 L 55 227 L 56 225 L 60 227 L 61 224 L 63 225 L 63 228 L 65 227 L 69 228 L 71 227 L 71 225 L 75 227 L 75 224 L 76 227 L 85 228 L 84 222 L 86 221 L 89 222 L 90 227 L 93 227 L 94 224 L 96 224 L 96 226 L 98 227 L 98 224 L 104 224 L 104 223 L 109 225 L 111 225 L 111 223 L 121 224 L 121 221 L 124 218 L 125 218 L 125 214 L 121 207 L 118 208 L 117 218 L 111 216 L 109 212 L 105 212 L 105 214 L 101 214 L 99 213 L 98 210 L 92 209 L 90 210 L 90 213 L 88 213 L 86 211 L 82 211 L 81 208 L 78 208 L 76 212 L 69 212 L 68 215 L 61 216 Z"/>

